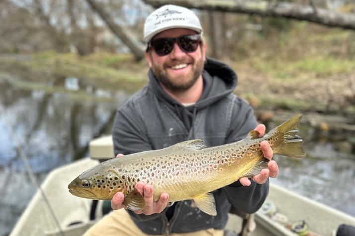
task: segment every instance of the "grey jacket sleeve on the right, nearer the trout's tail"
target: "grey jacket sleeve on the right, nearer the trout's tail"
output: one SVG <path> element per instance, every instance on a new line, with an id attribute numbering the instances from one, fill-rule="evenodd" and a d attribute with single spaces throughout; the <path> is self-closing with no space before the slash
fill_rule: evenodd
<path id="1" fill-rule="evenodd" d="M 230 133 L 226 143 L 244 139 L 250 130 L 255 129 L 257 121 L 253 109 L 242 99 L 236 98 L 233 107 Z M 256 212 L 264 203 L 269 191 L 269 180 L 264 184 L 251 180 L 250 186 L 242 186 L 238 181 L 224 187 L 229 202 L 245 213 Z"/>

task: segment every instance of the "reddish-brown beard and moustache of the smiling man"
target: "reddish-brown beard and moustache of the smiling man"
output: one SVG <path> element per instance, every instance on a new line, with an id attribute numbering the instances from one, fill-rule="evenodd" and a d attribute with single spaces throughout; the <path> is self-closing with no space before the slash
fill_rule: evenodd
<path id="1" fill-rule="evenodd" d="M 158 67 L 152 62 L 152 71 L 156 77 L 156 79 L 162 83 L 167 89 L 175 92 L 181 92 L 181 91 L 186 91 L 189 88 L 191 88 L 196 80 L 199 78 L 201 75 L 203 69 L 204 69 L 204 60 L 201 58 L 196 61 L 196 64 L 194 64 L 194 59 L 191 59 L 188 63 L 192 67 L 192 71 L 187 75 L 187 81 L 185 83 L 179 83 L 177 80 L 180 78 L 171 78 L 169 74 L 166 71 L 166 68 L 168 68 L 171 65 L 179 65 L 183 64 L 186 62 L 166 62 L 162 65 L 161 67 Z"/>

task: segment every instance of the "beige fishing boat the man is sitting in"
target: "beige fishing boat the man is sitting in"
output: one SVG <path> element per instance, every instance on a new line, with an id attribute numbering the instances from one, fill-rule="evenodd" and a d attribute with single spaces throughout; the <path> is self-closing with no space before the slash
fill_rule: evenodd
<path id="1" fill-rule="evenodd" d="M 93 200 L 73 196 L 67 189 L 76 176 L 114 156 L 112 137 L 92 140 L 89 153 L 90 157 L 48 174 L 10 236 L 80 236 L 102 217 L 103 201 L 94 200 L 93 204 Z M 243 236 L 335 236 L 341 224 L 355 226 L 353 216 L 273 183 L 258 212 L 239 214 L 243 218 L 234 213 L 229 213 L 225 235 L 243 232 Z M 295 233 L 297 231 L 301 232 Z"/>

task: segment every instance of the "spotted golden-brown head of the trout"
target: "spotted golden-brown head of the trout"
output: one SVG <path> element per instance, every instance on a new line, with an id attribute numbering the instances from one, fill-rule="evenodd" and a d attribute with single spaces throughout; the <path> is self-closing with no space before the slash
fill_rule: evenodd
<path id="1" fill-rule="evenodd" d="M 71 181 L 68 189 L 78 197 L 111 200 L 115 193 L 123 191 L 124 188 L 117 172 L 99 164 Z"/>

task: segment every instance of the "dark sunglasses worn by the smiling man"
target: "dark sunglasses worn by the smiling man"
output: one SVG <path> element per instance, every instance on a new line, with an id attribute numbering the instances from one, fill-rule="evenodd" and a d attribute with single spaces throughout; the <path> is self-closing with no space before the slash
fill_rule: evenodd
<path id="1" fill-rule="evenodd" d="M 175 42 L 178 43 L 183 52 L 195 52 L 201 42 L 199 34 L 183 35 L 177 38 L 158 38 L 150 41 L 149 45 L 159 56 L 165 56 L 171 53 Z"/>

